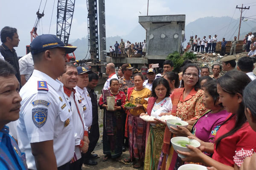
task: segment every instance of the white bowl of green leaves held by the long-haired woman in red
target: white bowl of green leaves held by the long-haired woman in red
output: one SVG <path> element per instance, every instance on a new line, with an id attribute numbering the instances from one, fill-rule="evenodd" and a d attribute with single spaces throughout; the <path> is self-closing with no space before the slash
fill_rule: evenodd
<path id="1" fill-rule="evenodd" d="M 195 140 L 195 139 L 189 139 L 187 137 L 183 137 L 183 136 L 177 136 L 177 137 L 173 137 L 171 139 L 171 142 L 172 142 L 172 146 L 173 146 L 173 149 L 176 151 L 176 150 L 179 150 L 179 151 L 182 151 L 182 152 L 189 152 L 190 149 L 187 148 L 187 147 L 182 147 L 180 146 L 180 144 L 177 144 L 177 142 L 180 142 L 180 141 L 186 141 L 186 142 L 189 142 L 190 145 L 192 145 L 193 147 L 200 147 L 200 143 Z M 177 151 L 176 151 L 177 152 Z M 178 153 L 178 156 L 180 158 L 185 158 L 186 156 L 182 155 L 182 154 L 179 154 Z"/>

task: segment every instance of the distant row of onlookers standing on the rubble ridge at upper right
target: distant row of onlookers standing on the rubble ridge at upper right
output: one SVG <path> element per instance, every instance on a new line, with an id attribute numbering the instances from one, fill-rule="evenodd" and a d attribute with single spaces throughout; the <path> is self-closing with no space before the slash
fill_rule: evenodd
<path id="1" fill-rule="evenodd" d="M 190 36 L 189 42 L 187 43 L 186 48 L 184 49 L 184 52 L 199 52 L 201 48 L 201 53 L 215 53 L 216 50 L 216 44 L 218 42 L 218 36 L 215 34 L 214 37 L 211 35 L 206 38 L 204 36 L 203 38 L 198 37 L 197 35 Z M 236 46 L 238 45 L 238 40 L 237 37 L 235 36 L 234 39 L 230 42 L 230 55 L 236 54 Z M 221 55 L 224 56 L 226 54 L 226 45 L 227 41 L 225 38 L 222 38 L 221 41 Z M 255 46 L 255 40 L 254 40 L 254 35 L 252 32 L 249 32 L 248 34 L 245 35 L 243 39 L 243 51 L 249 52 L 252 50 L 252 47 Z M 255 55 L 255 52 L 253 53 Z"/>

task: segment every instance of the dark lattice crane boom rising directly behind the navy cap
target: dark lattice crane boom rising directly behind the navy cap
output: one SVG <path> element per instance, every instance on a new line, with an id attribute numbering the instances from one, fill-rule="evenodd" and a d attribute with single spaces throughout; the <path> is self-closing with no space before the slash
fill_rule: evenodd
<path id="1" fill-rule="evenodd" d="M 70 36 L 70 28 L 73 19 L 73 13 L 75 8 L 75 0 L 58 0 L 57 6 L 57 37 L 64 42 L 65 45 L 68 44 Z M 75 61 L 76 56 L 67 54 L 68 61 Z"/>

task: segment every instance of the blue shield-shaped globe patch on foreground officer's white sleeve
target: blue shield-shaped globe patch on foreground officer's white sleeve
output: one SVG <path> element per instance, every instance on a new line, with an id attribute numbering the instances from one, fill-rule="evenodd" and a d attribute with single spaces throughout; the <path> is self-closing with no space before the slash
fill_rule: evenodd
<path id="1" fill-rule="evenodd" d="M 32 109 L 32 120 L 36 127 L 40 128 L 44 126 L 47 120 L 47 108 L 33 108 Z"/>

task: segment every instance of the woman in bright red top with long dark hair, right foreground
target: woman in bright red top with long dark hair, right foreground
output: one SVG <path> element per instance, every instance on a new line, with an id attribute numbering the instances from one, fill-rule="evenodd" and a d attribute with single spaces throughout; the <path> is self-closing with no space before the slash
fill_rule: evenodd
<path id="1" fill-rule="evenodd" d="M 213 150 L 212 158 L 201 150 L 188 145 L 190 152 L 181 152 L 183 161 L 201 162 L 218 170 L 238 170 L 243 162 L 244 150 L 256 149 L 256 132 L 250 127 L 244 114 L 243 90 L 250 78 L 241 71 L 228 71 L 218 79 L 219 101 L 230 115 L 218 130 L 214 146 L 201 142 L 200 149 Z"/>

